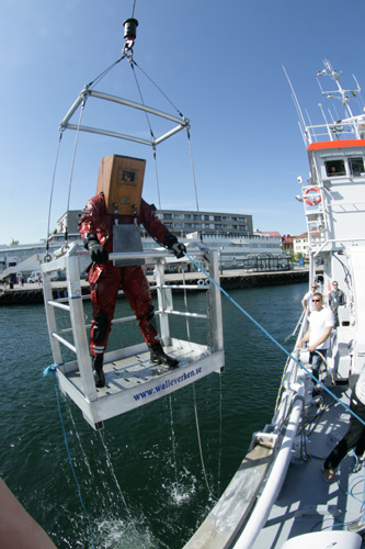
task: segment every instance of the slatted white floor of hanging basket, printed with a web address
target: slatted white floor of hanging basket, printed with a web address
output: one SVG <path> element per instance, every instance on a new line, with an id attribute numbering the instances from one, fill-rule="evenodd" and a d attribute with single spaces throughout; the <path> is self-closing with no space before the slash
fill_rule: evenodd
<path id="1" fill-rule="evenodd" d="M 198 379 L 219 371 L 224 352 L 206 346 L 173 339 L 164 351 L 179 360 L 178 368 L 155 365 L 145 344 L 105 355 L 105 386 L 90 401 L 84 394 L 77 361 L 57 370 L 61 390 L 82 411 L 93 427 L 101 422 L 166 396 Z"/>

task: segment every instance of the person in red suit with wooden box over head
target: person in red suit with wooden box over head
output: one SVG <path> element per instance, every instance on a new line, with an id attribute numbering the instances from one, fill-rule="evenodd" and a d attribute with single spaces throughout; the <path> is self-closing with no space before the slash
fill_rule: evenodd
<path id="1" fill-rule="evenodd" d="M 130 164 L 132 160 L 136 160 L 137 164 L 145 163 L 144 160 L 130 159 L 116 155 L 102 159 L 96 192 L 100 191 L 100 188 L 104 188 L 105 192 L 99 192 L 95 197 L 88 201 L 79 221 L 79 232 L 83 238 L 83 245 L 90 251 L 92 259 L 91 269 L 89 271 L 91 302 L 93 309 L 93 320 L 91 322 L 92 327 L 90 333 L 90 350 L 94 369 L 95 385 L 98 388 L 105 385 L 103 358 L 107 345 L 109 334 L 111 332 L 111 322 L 114 317 L 117 292 L 121 287 L 137 317 L 140 332 L 150 349 L 151 361 L 156 363 L 164 363 L 172 368 L 176 368 L 179 365 L 178 360 L 163 352 L 160 344 L 149 283 L 142 267 L 140 265 L 132 265 L 132 262 L 136 262 L 136 260 L 117 260 L 116 266 L 114 266 L 113 261 L 109 260 L 109 254 L 112 251 L 141 250 L 139 234 L 139 225 L 141 223 L 156 240 L 170 248 L 178 258 L 183 257 L 186 251 L 185 246 L 180 244 L 178 238 L 172 235 L 163 223 L 158 220 L 155 215 L 153 208 L 147 204 L 140 195 L 138 199 L 139 203 L 137 205 L 135 203 L 135 197 L 133 198 L 134 214 L 132 215 L 121 214 L 119 212 L 121 210 L 123 212 L 123 208 L 119 208 L 118 210 L 118 205 L 115 202 L 111 204 L 111 200 L 109 200 L 109 198 L 112 197 L 111 188 L 113 187 L 113 178 L 110 177 L 111 173 L 107 172 L 106 169 L 107 160 L 110 159 L 112 159 L 111 161 L 113 163 L 117 160 L 119 164 L 123 164 L 123 161 L 129 161 Z M 136 177 L 137 179 L 138 170 L 140 169 L 139 166 L 138 169 L 125 169 L 123 166 L 118 166 L 118 168 L 122 176 L 119 173 L 117 184 L 119 184 L 123 177 L 125 177 L 125 180 L 128 180 L 128 183 L 126 184 L 130 187 L 130 178 Z M 141 179 L 144 176 L 144 169 L 145 165 L 141 170 Z M 101 178 L 105 179 L 105 172 L 107 173 L 106 177 L 109 179 L 106 187 L 105 181 L 104 183 L 100 182 Z M 126 173 L 125 176 L 124 172 Z M 127 188 L 127 190 L 129 189 Z M 121 189 L 118 188 L 117 191 L 119 192 Z M 107 194 L 110 194 L 110 197 Z M 115 193 L 112 200 L 115 200 Z M 122 202 L 122 200 L 118 202 Z M 111 208 L 113 208 L 112 211 L 114 213 L 110 213 Z M 136 233 L 138 233 L 137 240 L 139 238 L 137 247 L 135 247 Z M 134 234 L 134 236 L 130 237 L 130 234 Z M 125 242 L 127 242 L 127 249 L 125 247 Z M 124 249 L 121 249 L 121 246 L 122 248 L 124 247 Z"/>

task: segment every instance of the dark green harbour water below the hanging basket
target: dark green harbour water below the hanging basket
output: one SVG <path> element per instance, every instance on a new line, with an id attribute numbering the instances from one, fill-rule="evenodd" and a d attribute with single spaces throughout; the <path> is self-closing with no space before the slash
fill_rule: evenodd
<path id="1" fill-rule="evenodd" d="M 294 339 L 284 340 L 306 290 L 307 284 L 289 284 L 230 294 L 290 351 Z M 203 292 L 191 299 L 204 299 Z M 286 356 L 225 296 L 223 309 L 226 371 L 195 383 L 212 493 L 199 457 L 192 385 L 106 422 L 102 432 L 60 396 L 95 548 L 181 548 L 238 469 L 252 433 L 270 423 Z M 54 381 L 43 377 L 53 362 L 44 309 L 0 307 L 0 474 L 59 549 L 91 548 Z"/>

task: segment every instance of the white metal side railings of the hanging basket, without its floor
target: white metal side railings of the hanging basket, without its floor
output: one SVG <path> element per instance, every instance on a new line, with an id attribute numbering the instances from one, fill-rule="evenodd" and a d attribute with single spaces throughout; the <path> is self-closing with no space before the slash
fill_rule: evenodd
<path id="1" fill-rule="evenodd" d="M 189 254 L 194 257 L 197 262 L 206 264 L 207 271 L 209 276 L 219 282 L 219 266 L 218 266 L 218 255 L 216 251 L 206 250 L 190 250 Z M 223 325 L 221 325 L 221 303 L 220 303 L 220 292 L 216 288 L 216 284 L 209 284 L 203 287 L 204 290 L 210 293 L 210 307 L 209 314 L 201 314 L 186 311 L 175 311 L 173 309 L 172 302 L 172 291 L 179 289 L 196 289 L 193 284 L 173 284 L 170 287 L 166 280 L 166 265 L 168 258 L 172 254 L 168 251 L 144 251 L 136 254 L 110 254 L 110 259 L 145 259 L 148 264 L 156 265 L 156 291 L 158 299 L 158 311 L 157 315 L 160 318 L 160 335 L 164 345 L 171 345 L 172 337 L 170 330 L 169 318 L 172 315 L 186 316 L 189 318 L 205 318 L 207 321 L 207 338 L 212 346 L 212 352 L 223 350 Z M 90 295 L 82 295 L 80 272 L 84 270 L 84 266 L 89 261 L 89 254 L 83 250 L 78 251 L 77 243 L 70 245 L 65 249 L 65 254 L 60 255 L 56 259 L 43 264 L 43 278 L 44 278 L 44 301 L 46 309 L 46 318 L 49 332 L 49 339 L 54 356 L 54 361 L 56 363 L 64 363 L 62 359 L 62 348 L 67 348 L 76 354 L 78 369 L 80 371 L 80 377 L 82 379 L 82 385 L 84 390 L 84 396 L 90 402 L 94 401 L 98 395 L 94 386 L 92 369 L 91 369 L 91 357 L 89 351 L 89 341 L 87 332 L 91 327 L 91 324 L 85 324 L 84 322 L 84 309 L 83 301 L 84 298 L 90 299 Z M 67 298 L 54 299 L 53 289 L 50 283 L 50 273 L 54 271 L 65 271 L 67 280 Z M 70 314 L 71 327 L 69 328 L 58 328 L 57 318 L 55 310 L 64 310 Z M 123 318 L 116 318 L 113 324 L 134 321 L 135 316 L 127 316 Z M 68 341 L 65 337 L 66 334 L 72 334 L 73 345 Z"/>

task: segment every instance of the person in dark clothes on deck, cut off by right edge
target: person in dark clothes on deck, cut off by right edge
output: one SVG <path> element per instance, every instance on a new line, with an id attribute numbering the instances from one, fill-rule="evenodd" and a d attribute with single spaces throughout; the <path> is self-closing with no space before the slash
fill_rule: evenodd
<path id="1" fill-rule="evenodd" d="M 365 422 L 365 369 L 363 369 L 351 395 L 350 410 Z M 323 464 L 323 478 L 333 482 L 335 469 L 346 453 L 355 448 L 355 456 L 360 460 L 365 451 L 365 426 L 353 415 L 345 436 L 333 448 Z"/>

